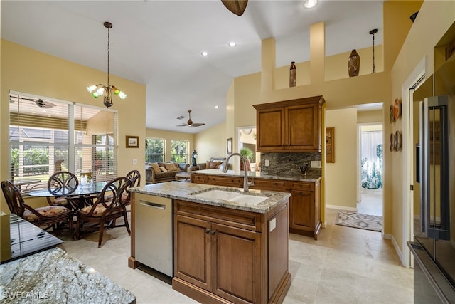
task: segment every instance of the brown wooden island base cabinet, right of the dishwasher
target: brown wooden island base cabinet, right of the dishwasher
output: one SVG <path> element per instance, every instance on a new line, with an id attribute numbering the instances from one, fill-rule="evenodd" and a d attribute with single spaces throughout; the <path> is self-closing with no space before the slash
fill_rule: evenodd
<path id="1" fill-rule="evenodd" d="M 174 201 L 173 289 L 201 303 L 282 302 L 287 214 L 287 201 L 267 215 Z"/>

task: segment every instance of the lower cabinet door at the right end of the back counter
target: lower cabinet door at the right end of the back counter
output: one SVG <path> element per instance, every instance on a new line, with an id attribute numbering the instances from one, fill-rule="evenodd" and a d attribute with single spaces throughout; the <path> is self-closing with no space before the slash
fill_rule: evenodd
<path id="1" fill-rule="evenodd" d="M 289 211 L 291 228 L 314 231 L 314 192 L 293 190 Z"/>

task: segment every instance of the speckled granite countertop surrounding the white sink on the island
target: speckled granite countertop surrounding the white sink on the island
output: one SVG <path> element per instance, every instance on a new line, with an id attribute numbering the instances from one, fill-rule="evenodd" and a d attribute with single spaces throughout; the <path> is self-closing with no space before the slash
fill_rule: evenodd
<path id="1" fill-rule="evenodd" d="M 239 192 L 240 194 L 247 194 L 253 196 L 267 196 L 267 199 L 260 202 L 259 204 L 252 205 L 235 201 L 225 201 L 222 199 L 207 199 L 194 196 L 194 194 L 205 192 L 208 189 L 223 189 L 231 192 Z M 132 188 L 131 191 L 142 194 L 163 196 L 171 199 L 192 201 L 194 203 L 251 211 L 260 214 L 266 214 L 276 204 L 279 204 L 283 199 L 289 199 L 289 197 L 291 196 L 291 194 L 285 192 L 250 189 L 250 191 L 246 193 L 243 192 L 242 188 L 220 187 L 213 186 L 210 184 L 193 184 L 188 182 L 164 182 L 158 184 L 148 184 L 143 187 Z"/>

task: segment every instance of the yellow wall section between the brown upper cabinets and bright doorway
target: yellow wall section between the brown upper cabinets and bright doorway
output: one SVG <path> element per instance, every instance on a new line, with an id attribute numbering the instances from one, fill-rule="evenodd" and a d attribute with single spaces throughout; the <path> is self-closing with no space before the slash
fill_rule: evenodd
<path id="1" fill-rule="evenodd" d="M 326 127 L 335 128 L 335 162 L 326 164 L 326 205 L 357 210 L 357 109 L 326 110 Z"/>

